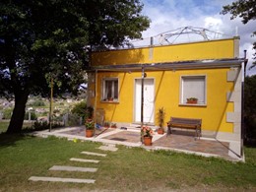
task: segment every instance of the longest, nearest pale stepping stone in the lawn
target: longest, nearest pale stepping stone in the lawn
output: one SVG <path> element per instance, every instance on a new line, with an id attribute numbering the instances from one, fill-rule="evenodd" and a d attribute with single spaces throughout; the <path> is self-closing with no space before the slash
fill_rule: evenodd
<path id="1" fill-rule="evenodd" d="M 80 179 L 80 178 L 60 178 L 60 177 L 44 177 L 32 176 L 29 178 L 32 181 L 50 181 L 50 182 L 65 182 L 65 183 L 95 183 L 94 179 Z"/>

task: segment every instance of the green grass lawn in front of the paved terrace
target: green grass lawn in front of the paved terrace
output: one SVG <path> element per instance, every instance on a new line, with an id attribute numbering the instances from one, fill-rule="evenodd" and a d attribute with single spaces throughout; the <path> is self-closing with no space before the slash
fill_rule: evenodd
<path id="1" fill-rule="evenodd" d="M 101 144 L 71 142 L 50 137 L 0 135 L 0 191 L 169 191 L 256 190 L 256 149 L 246 148 L 248 162 L 207 159 L 173 152 L 148 152 L 118 146 L 105 158 L 89 157 L 82 151 L 98 152 Z M 70 158 L 100 160 L 98 164 Z M 96 173 L 49 171 L 52 165 L 96 167 Z M 96 179 L 95 184 L 28 181 L 30 176 Z"/>

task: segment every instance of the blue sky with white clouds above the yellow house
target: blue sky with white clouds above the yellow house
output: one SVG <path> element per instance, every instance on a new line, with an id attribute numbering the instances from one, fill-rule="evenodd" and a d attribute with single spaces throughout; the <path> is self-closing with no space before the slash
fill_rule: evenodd
<path id="1" fill-rule="evenodd" d="M 256 36 L 256 21 L 243 25 L 240 18 L 230 20 L 230 15 L 221 15 L 223 6 L 232 0 L 141 0 L 144 4 L 142 14 L 151 19 L 150 28 L 143 32 L 143 37 L 155 36 L 161 32 L 173 31 L 183 27 L 204 28 L 221 32 L 230 37 L 236 33 L 240 36 L 239 57 L 244 57 L 247 50 L 249 59 L 246 74 L 256 74 L 256 67 L 248 70 L 253 62 L 252 43 Z"/>

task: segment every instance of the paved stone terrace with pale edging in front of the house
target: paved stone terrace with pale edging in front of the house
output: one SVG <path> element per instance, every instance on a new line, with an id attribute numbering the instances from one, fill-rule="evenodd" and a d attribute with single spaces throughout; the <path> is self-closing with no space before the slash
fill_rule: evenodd
<path id="1" fill-rule="evenodd" d="M 219 157 L 225 160 L 241 160 L 232 152 L 232 148 L 237 147 L 237 143 L 230 141 L 218 141 L 216 139 L 203 138 L 195 140 L 194 133 L 186 131 L 173 131 L 173 134 L 159 135 L 155 133 L 153 145 L 145 147 L 140 140 L 140 129 L 128 128 L 127 130 L 119 128 L 96 129 L 96 135 L 93 138 L 85 137 L 85 126 L 69 127 L 36 132 L 35 135 L 47 137 L 50 135 L 56 137 L 65 137 L 68 139 L 80 139 L 85 141 L 101 142 L 104 144 L 116 144 L 129 147 L 143 147 L 148 150 L 171 150 L 187 154 L 195 154 L 204 157 Z"/>

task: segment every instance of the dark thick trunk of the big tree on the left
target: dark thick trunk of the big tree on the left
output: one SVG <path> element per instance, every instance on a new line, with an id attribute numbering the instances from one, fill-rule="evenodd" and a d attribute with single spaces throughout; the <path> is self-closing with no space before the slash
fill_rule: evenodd
<path id="1" fill-rule="evenodd" d="M 26 93 L 15 96 L 15 106 L 7 129 L 8 134 L 20 133 L 22 131 L 28 97 L 29 94 Z"/>

